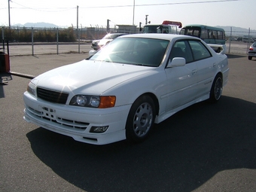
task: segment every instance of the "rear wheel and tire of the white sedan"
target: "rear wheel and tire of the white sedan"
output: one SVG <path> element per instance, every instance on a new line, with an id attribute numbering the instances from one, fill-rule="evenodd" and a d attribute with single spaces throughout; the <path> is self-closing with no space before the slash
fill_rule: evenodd
<path id="1" fill-rule="evenodd" d="M 210 102 L 218 102 L 221 98 L 221 93 L 223 90 L 223 80 L 221 75 L 216 75 L 215 80 L 213 81 L 211 92 L 210 92 Z"/>

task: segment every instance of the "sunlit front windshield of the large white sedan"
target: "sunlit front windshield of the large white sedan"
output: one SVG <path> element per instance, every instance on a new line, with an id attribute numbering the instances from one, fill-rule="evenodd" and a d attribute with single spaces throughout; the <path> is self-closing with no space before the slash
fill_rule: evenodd
<path id="1" fill-rule="evenodd" d="M 169 41 L 152 38 L 116 38 L 90 60 L 139 66 L 160 66 Z"/>

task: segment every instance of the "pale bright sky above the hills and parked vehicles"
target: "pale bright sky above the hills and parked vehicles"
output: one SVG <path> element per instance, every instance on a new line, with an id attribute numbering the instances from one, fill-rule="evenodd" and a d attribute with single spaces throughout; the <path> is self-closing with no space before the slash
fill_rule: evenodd
<path id="1" fill-rule="evenodd" d="M 9 2 L 10 1 L 10 2 Z M 256 0 L 0 0 L 0 26 L 25 23 L 53 23 L 59 27 L 110 27 L 145 25 L 163 20 L 183 26 L 236 26 L 256 29 Z"/>

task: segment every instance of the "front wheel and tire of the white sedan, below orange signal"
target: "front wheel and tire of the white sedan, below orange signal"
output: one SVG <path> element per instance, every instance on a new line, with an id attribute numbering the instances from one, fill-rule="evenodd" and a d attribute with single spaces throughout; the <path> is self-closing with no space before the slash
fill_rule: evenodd
<path id="1" fill-rule="evenodd" d="M 126 120 L 126 139 L 142 142 L 154 126 L 156 117 L 154 101 L 150 96 L 140 96 L 130 108 Z"/>

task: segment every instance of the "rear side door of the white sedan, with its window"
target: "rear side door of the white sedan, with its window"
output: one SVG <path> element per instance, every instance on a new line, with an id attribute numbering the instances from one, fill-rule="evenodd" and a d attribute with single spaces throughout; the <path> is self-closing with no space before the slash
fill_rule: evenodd
<path id="1" fill-rule="evenodd" d="M 217 68 L 212 53 L 201 41 L 188 41 L 194 62 L 197 64 L 197 98 L 209 93 Z"/>

